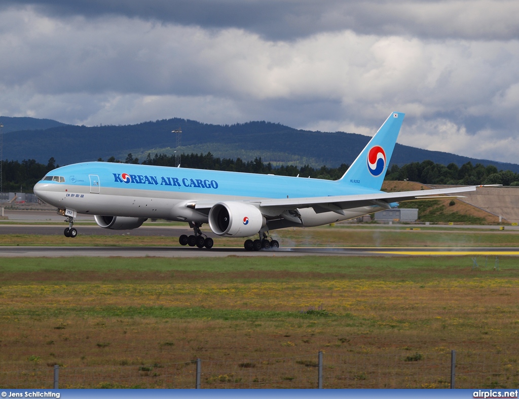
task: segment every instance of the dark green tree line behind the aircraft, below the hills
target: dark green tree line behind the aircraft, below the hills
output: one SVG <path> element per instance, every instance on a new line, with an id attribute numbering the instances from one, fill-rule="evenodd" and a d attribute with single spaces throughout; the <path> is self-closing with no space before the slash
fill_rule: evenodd
<path id="1" fill-rule="evenodd" d="M 98 161 L 103 162 L 102 159 Z M 229 172 L 273 174 L 280 176 L 301 176 L 316 179 L 337 180 L 344 175 L 349 165 L 342 164 L 337 168 L 321 166 L 313 168 L 309 165 L 301 167 L 294 165 L 272 166 L 264 163 L 261 158 L 253 161 L 243 161 L 240 158 L 218 158 L 208 152 L 207 154 L 147 154 L 142 162 L 134 158 L 131 153 L 124 161 L 116 159 L 114 156 L 106 162 L 143 164 L 176 167 L 179 163 L 181 167 L 195 169 L 227 170 Z M 52 169 L 59 167 L 54 158 L 50 158 L 47 165 L 37 163 L 35 160 L 8 161 L 2 165 L 3 170 L 3 189 L 4 192 L 32 192 L 34 184 Z M 432 161 L 413 162 L 403 166 L 392 165 L 385 180 L 410 180 L 424 184 L 503 184 L 504 186 L 519 186 L 519 174 L 511 170 L 498 170 L 496 166 L 484 166 L 482 164 L 472 165 L 471 162 L 458 167 L 454 163 L 447 166 L 434 163 Z"/>

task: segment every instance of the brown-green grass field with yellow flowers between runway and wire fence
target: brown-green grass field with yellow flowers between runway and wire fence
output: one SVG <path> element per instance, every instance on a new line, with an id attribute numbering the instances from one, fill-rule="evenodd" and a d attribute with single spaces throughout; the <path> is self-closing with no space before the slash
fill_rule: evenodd
<path id="1" fill-rule="evenodd" d="M 519 259 L 500 258 L 498 270 L 493 261 L 473 270 L 469 257 L 3 258 L 0 371 L 319 350 L 519 353 Z M 516 387 L 517 356 L 507 362 L 498 386 Z"/>

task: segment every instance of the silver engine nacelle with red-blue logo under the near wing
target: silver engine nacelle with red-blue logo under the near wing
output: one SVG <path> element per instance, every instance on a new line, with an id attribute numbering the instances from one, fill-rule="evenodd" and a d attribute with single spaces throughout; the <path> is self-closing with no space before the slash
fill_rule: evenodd
<path id="1" fill-rule="evenodd" d="M 258 208 L 242 202 L 220 202 L 209 211 L 209 227 L 220 236 L 248 237 L 260 232 L 265 224 Z"/>

